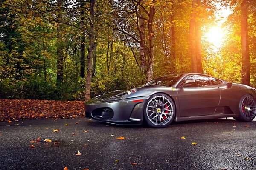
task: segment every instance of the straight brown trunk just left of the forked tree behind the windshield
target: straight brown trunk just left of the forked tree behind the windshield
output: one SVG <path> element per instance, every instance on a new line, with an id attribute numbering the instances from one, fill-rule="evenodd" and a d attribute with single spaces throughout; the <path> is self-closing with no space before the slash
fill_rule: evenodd
<path id="1" fill-rule="evenodd" d="M 145 22 L 142 18 L 139 19 L 140 23 L 140 69 L 143 74 L 146 73 L 146 56 L 145 56 Z"/>

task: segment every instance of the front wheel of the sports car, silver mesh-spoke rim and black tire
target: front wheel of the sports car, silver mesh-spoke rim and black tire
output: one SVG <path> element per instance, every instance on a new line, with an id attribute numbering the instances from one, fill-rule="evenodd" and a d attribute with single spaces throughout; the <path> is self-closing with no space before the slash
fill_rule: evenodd
<path id="1" fill-rule="evenodd" d="M 174 102 L 166 94 L 153 94 L 145 102 L 143 116 L 150 127 L 167 127 L 175 118 Z"/>

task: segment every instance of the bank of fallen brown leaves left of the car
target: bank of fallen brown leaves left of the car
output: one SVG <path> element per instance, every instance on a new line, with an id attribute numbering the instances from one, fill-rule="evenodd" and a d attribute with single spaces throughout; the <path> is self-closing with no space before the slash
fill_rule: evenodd
<path id="1" fill-rule="evenodd" d="M 0 99 L 0 121 L 83 118 L 84 102 Z"/>

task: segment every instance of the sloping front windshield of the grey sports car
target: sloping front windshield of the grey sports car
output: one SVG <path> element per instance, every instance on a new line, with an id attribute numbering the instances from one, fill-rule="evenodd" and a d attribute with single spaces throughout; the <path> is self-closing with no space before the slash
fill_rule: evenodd
<path id="1" fill-rule="evenodd" d="M 159 86 L 172 86 L 183 74 L 170 74 L 162 77 L 158 77 L 147 82 L 144 86 L 159 85 Z"/>

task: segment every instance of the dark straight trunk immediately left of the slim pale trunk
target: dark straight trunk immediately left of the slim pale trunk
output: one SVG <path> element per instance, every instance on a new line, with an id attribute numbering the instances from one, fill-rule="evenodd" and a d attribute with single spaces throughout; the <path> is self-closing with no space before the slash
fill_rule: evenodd
<path id="1" fill-rule="evenodd" d="M 81 7 L 81 24 L 80 27 L 82 30 L 85 29 L 85 24 L 84 24 L 84 1 L 80 1 L 80 7 Z M 85 76 L 85 31 L 81 32 L 81 45 L 80 45 L 80 50 L 81 50 L 81 56 L 80 56 L 80 76 L 84 78 Z"/>

